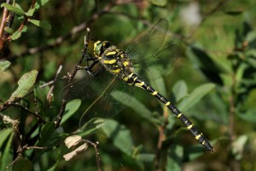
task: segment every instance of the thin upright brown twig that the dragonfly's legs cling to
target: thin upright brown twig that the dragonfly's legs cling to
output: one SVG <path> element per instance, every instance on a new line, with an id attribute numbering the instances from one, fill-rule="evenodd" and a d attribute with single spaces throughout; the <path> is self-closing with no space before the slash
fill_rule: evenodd
<path id="1" fill-rule="evenodd" d="M 84 49 L 82 50 L 81 58 L 80 58 L 79 62 L 77 63 L 76 67 L 74 68 L 70 77 L 68 77 L 67 85 L 70 85 L 70 83 L 72 83 L 73 78 L 75 77 L 76 73 L 79 71 L 79 66 L 81 66 L 82 61 L 84 60 L 85 54 L 87 53 L 89 38 L 90 38 L 90 29 L 87 28 L 87 35 L 86 35 L 86 37 L 84 37 Z M 55 120 L 55 128 L 58 128 L 61 123 L 61 118 L 64 114 L 64 111 L 65 111 L 65 108 L 67 105 L 67 96 L 68 96 L 69 90 L 70 90 L 70 86 L 67 86 L 67 89 L 65 89 L 65 96 L 62 99 L 61 110 Z"/>

